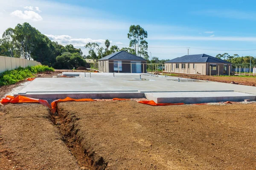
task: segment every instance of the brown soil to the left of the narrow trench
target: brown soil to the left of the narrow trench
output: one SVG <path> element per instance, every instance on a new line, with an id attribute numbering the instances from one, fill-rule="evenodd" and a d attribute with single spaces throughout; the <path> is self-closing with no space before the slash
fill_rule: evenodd
<path id="1" fill-rule="evenodd" d="M 0 106 L 0 170 L 79 170 L 49 110 L 40 104 Z"/>

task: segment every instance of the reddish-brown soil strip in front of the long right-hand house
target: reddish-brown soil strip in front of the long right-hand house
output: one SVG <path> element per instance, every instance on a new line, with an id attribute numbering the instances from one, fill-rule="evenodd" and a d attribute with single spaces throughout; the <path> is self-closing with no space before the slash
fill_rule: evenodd
<path id="1" fill-rule="evenodd" d="M 239 76 L 207 76 L 207 75 L 198 75 L 198 74 L 173 74 L 178 77 L 189 78 L 189 79 L 200 79 L 200 80 L 209 80 L 213 82 L 224 82 L 231 83 L 236 82 L 240 85 L 256 85 L 256 77 L 239 77 Z"/>

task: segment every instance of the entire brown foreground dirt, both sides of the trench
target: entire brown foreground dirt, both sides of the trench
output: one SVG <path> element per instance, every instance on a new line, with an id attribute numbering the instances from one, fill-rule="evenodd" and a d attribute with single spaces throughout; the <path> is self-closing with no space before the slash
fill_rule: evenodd
<path id="1" fill-rule="evenodd" d="M 256 105 L 136 101 L 0 107 L 0 169 L 244 170 L 256 167 Z"/>

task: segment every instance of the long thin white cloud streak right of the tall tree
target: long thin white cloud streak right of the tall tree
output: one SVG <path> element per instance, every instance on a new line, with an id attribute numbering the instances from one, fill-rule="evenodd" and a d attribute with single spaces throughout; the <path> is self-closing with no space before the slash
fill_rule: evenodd
<path id="1" fill-rule="evenodd" d="M 256 37 L 200 37 L 200 36 L 152 36 L 148 40 L 192 40 L 192 41 L 244 41 L 256 42 Z"/>

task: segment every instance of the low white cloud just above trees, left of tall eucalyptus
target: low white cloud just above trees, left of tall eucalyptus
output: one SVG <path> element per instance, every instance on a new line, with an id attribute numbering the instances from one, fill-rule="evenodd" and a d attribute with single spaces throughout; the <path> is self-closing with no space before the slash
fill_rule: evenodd
<path id="1" fill-rule="evenodd" d="M 83 47 L 88 42 L 96 42 L 98 44 L 104 44 L 105 40 L 99 39 L 99 40 L 93 40 L 91 38 L 73 38 L 69 35 L 48 35 L 45 34 L 50 40 L 57 41 L 59 44 L 67 45 L 67 44 L 73 44 L 77 47 Z M 112 42 L 112 41 L 110 41 Z"/>

